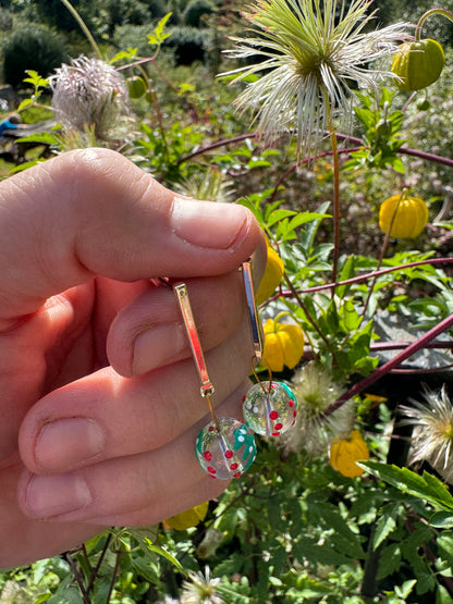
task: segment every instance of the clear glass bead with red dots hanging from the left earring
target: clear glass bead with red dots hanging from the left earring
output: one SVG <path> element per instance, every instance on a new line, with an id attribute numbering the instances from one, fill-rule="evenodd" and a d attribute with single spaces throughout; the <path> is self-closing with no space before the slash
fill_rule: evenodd
<path id="1" fill-rule="evenodd" d="M 255 437 L 242 421 L 222 417 L 210 421 L 195 442 L 195 455 L 201 468 L 212 478 L 238 478 L 256 457 Z"/>

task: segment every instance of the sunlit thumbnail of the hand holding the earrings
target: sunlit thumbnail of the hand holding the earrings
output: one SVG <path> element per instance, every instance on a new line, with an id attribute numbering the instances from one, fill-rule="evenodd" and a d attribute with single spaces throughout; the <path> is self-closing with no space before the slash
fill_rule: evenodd
<path id="1" fill-rule="evenodd" d="M 249 214 L 242 206 L 173 199 L 170 225 L 179 237 L 200 247 L 234 247 L 248 230 Z"/>

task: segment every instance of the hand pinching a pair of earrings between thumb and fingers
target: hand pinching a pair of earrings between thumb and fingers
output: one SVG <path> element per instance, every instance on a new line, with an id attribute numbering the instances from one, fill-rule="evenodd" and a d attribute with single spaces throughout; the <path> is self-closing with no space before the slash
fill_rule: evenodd
<path id="1" fill-rule="evenodd" d="M 0 568 L 218 496 L 194 456 L 207 403 L 171 288 L 187 284 L 219 416 L 253 355 L 240 206 L 181 199 L 122 156 L 72 151 L 0 184 Z"/>

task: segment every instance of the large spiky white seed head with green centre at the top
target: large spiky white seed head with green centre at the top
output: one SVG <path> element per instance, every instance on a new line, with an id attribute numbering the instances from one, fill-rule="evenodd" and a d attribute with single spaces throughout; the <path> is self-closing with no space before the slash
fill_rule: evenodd
<path id="1" fill-rule="evenodd" d="M 272 139 L 297 126 L 297 150 L 316 148 L 333 114 L 352 116 L 354 91 L 377 87 L 391 71 L 368 65 L 394 52 L 407 38 L 405 24 L 364 32 L 375 12 L 369 0 L 255 0 L 243 16 L 252 35 L 233 38 L 231 57 L 264 60 L 229 72 L 234 82 L 255 78 L 236 99 L 240 110 L 252 108 L 258 133 Z M 256 78 L 256 74 L 266 75 Z M 252 77 L 250 77 L 252 76 Z"/>

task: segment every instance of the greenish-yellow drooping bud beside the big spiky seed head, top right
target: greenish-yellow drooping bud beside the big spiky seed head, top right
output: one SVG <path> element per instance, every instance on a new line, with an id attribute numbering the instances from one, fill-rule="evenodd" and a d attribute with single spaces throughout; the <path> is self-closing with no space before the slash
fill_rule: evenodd
<path id="1" fill-rule="evenodd" d="M 421 90 L 439 79 L 445 64 L 445 56 L 436 40 L 404 42 L 393 57 L 392 72 L 400 90 Z"/>

